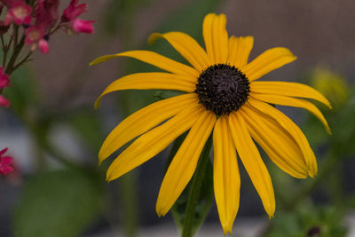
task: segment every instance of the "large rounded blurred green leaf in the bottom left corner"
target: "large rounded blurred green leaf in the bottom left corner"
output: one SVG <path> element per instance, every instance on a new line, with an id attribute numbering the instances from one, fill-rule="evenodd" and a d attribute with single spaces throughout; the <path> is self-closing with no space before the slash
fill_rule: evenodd
<path id="1" fill-rule="evenodd" d="M 101 186 L 78 170 L 49 171 L 25 183 L 15 211 L 16 237 L 79 236 L 100 210 Z"/>

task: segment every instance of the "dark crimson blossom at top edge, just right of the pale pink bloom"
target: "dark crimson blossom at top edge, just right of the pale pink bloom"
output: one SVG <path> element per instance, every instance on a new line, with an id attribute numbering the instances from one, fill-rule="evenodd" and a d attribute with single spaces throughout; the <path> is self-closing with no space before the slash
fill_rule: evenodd
<path id="1" fill-rule="evenodd" d="M 36 26 L 48 30 L 59 19 L 58 0 L 39 0 L 35 10 Z"/>

